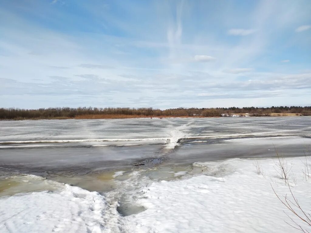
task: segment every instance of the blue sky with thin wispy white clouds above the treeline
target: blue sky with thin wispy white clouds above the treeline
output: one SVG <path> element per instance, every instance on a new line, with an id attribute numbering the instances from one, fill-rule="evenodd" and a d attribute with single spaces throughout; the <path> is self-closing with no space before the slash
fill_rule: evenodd
<path id="1" fill-rule="evenodd" d="M 0 107 L 311 105 L 311 1 L 0 1 Z"/>

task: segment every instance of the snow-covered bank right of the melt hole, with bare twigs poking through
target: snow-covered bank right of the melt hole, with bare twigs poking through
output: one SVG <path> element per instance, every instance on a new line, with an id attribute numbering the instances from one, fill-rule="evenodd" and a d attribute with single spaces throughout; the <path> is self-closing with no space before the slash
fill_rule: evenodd
<path id="1" fill-rule="evenodd" d="M 290 184 L 300 206 L 310 213 L 311 180 L 303 178 L 305 167 L 301 160 L 304 161 L 304 157 L 287 158 L 288 166 L 293 165 Z M 209 176 L 161 181 L 143 188 L 144 194 L 137 204 L 147 209 L 124 217 L 127 232 L 299 232 L 284 222 L 294 224 L 283 210 L 310 231 L 272 190 L 270 183 L 281 198 L 290 194 L 284 180 L 277 176 L 276 161 L 258 162 L 263 175 L 257 174 L 255 160 L 198 162 L 194 166 L 202 167 L 202 172 Z"/>

